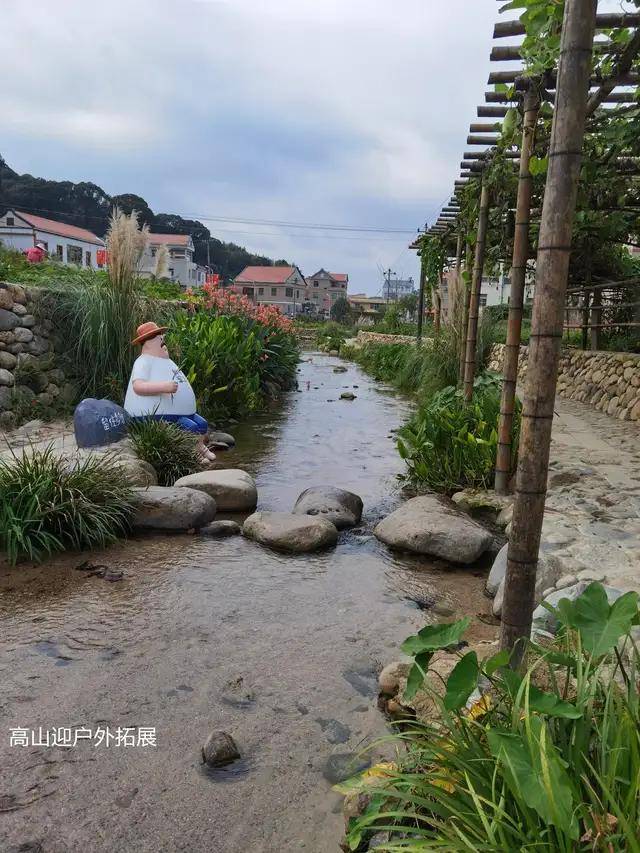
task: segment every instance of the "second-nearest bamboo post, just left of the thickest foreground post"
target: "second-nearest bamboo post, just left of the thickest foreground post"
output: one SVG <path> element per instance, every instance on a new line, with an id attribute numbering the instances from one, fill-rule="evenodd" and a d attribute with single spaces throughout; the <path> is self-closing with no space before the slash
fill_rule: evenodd
<path id="1" fill-rule="evenodd" d="M 531 216 L 531 190 L 533 178 L 529 161 L 535 141 L 536 122 L 540 109 L 538 84 L 529 81 L 524 98 L 522 124 L 522 146 L 520 150 L 520 174 L 516 201 L 516 225 L 513 239 L 513 261 L 511 264 L 511 289 L 509 294 L 509 318 L 507 320 L 507 342 L 502 366 L 502 399 L 498 422 L 498 448 L 496 453 L 495 488 L 499 495 L 506 495 L 511 477 L 513 413 L 518 381 L 518 359 L 520 357 L 520 335 L 522 332 L 522 309 L 524 284 L 529 257 L 529 219 Z"/>

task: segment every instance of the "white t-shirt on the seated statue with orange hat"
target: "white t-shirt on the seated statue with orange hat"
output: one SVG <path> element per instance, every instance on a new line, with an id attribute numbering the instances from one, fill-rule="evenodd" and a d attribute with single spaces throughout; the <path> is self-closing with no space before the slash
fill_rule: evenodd
<path id="1" fill-rule="evenodd" d="M 136 394 L 133 383 L 136 379 L 149 382 L 177 382 L 175 394 Z M 189 380 L 170 358 L 155 355 L 140 355 L 133 364 L 124 407 L 133 417 L 141 415 L 193 415 L 196 411 L 196 395 Z"/>

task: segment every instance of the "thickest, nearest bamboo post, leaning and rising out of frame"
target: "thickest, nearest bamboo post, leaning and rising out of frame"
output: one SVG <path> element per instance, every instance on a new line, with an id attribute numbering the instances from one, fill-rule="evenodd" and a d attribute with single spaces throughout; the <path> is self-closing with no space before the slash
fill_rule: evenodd
<path id="1" fill-rule="evenodd" d="M 595 16 L 595 0 L 566 0 L 502 608 L 501 646 L 514 650 L 512 666 L 531 632 Z"/>

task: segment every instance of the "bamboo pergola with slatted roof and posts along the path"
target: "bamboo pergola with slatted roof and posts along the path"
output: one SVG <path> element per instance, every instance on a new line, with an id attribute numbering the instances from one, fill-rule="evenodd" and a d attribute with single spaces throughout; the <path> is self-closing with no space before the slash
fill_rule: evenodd
<path id="1" fill-rule="evenodd" d="M 616 30 L 632 28 L 629 37 L 617 39 Z M 526 34 L 519 20 L 500 21 L 493 37 L 501 40 Z M 597 13 L 597 0 L 565 0 L 561 33 L 560 61 L 537 76 L 526 68 L 492 71 L 488 82 L 495 91 L 485 93 L 485 103 L 477 107 L 478 119 L 469 125 L 468 150 L 460 161 L 460 176 L 454 181 L 451 200 L 442 207 L 434 224 L 425 226 L 426 238 L 447 240 L 448 254 L 455 249 L 455 271 L 460 281 L 462 268 L 471 273 L 466 288 L 461 327 L 464 330 L 460 356 L 460 379 L 464 397 L 473 394 L 480 285 L 483 275 L 487 221 L 492 205 L 491 188 L 485 180 L 496 151 L 504 168 L 511 163 L 517 175 L 515 227 L 511 257 L 503 260 L 511 269 L 507 322 L 507 343 L 503 368 L 502 400 L 496 459 L 496 491 L 506 493 L 512 483 L 512 426 L 515 411 L 518 357 L 524 308 L 525 283 L 531 253 L 530 224 L 537 220 L 539 239 L 535 263 L 535 290 L 529 348 L 527 382 L 522 411 L 522 427 L 515 484 L 514 515 L 509 541 L 507 574 L 502 616 L 502 645 L 516 649 L 528 636 L 533 611 L 538 548 L 546 497 L 546 480 L 555 399 L 559 350 L 563 326 L 581 329 L 583 345 L 587 333 L 597 343 L 600 329 L 640 326 L 640 300 L 629 298 L 632 282 L 585 281 L 567 289 L 569 255 L 574 211 L 581 168 L 581 150 L 587 124 L 597 132 L 598 122 L 609 111 L 633 109 L 638 104 L 636 87 L 640 74 L 634 61 L 640 53 L 640 13 Z M 606 73 L 594 71 L 592 56 L 607 57 Z M 519 44 L 494 45 L 493 63 L 522 59 Z M 634 87 L 632 90 L 630 87 Z M 542 138 L 539 129 L 541 102 L 553 111 L 551 134 Z M 521 115 L 519 144 L 501 145 L 502 121 L 509 110 Z M 616 114 L 616 113 L 613 113 Z M 531 158 L 536 147 L 548 151 L 548 170 L 541 210 L 532 210 Z M 621 152 L 612 161 L 617 174 L 629 180 L 640 174 L 640 159 Z M 507 168 L 507 173 L 509 169 Z M 464 251 L 465 233 L 458 194 L 477 186 L 478 213 L 473 266 Z M 640 202 L 637 202 L 640 205 Z M 640 211 L 640 207 L 638 208 Z M 633 320 L 612 316 L 613 309 L 633 309 Z M 580 313 L 581 312 L 581 313 Z M 578 317 L 579 319 L 576 319 Z M 461 329 L 461 331 L 462 331 Z"/>

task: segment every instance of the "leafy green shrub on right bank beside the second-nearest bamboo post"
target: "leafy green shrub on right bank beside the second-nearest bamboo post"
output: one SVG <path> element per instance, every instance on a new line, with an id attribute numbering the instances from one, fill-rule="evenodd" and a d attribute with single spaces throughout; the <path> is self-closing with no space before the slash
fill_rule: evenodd
<path id="1" fill-rule="evenodd" d="M 419 488 L 456 492 L 467 486 L 491 488 L 498 444 L 500 377 L 476 379 L 473 400 L 466 404 L 461 390 L 445 388 L 422 406 L 398 435 L 398 452 L 407 479 Z M 515 470 L 520 430 L 517 402 L 513 429 Z"/>

